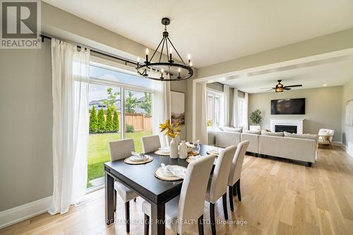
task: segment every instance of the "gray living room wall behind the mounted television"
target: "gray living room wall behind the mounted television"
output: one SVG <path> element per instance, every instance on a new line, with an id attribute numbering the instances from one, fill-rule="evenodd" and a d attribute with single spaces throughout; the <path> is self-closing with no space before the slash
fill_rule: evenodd
<path id="1" fill-rule="evenodd" d="M 271 115 L 271 100 L 285 98 L 306 98 L 306 114 Z M 342 140 L 342 86 L 250 94 L 249 114 L 255 109 L 260 109 L 263 113 L 262 129 L 270 129 L 270 119 L 305 119 L 304 133 L 315 134 L 320 128 L 330 128 L 335 130 L 333 140 Z"/>

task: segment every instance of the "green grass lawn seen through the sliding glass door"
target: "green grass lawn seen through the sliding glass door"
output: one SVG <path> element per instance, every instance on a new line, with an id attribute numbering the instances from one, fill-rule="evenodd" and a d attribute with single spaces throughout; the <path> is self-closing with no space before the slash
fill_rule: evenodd
<path id="1" fill-rule="evenodd" d="M 110 159 L 109 142 L 120 140 L 120 133 L 91 134 L 88 146 L 88 182 L 104 176 L 103 163 Z M 125 138 L 133 138 L 136 152 L 142 152 L 141 137 L 152 135 L 152 131 L 125 133 Z M 88 187 L 90 183 L 88 183 Z"/>

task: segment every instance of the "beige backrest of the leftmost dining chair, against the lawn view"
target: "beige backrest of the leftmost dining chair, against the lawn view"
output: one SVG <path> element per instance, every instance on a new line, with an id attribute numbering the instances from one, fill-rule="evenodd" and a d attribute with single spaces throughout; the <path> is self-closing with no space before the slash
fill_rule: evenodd
<path id="1" fill-rule="evenodd" d="M 109 142 L 110 160 L 115 161 L 131 156 L 131 152 L 135 151 L 133 139 L 116 140 Z"/>

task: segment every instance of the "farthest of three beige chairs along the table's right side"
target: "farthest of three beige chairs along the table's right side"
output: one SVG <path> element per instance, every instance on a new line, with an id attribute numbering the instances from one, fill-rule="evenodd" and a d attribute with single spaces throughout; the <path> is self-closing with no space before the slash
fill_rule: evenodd
<path id="1" fill-rule="evenodd" d="M 249 144 L 250 144 L 249 140 L 244 140 L 238 144 L 237 151 L 235 152 L 235 155 L 233 157 L 232 167 L 230 168 L 229 180 L 228 180 L 228 188 L 229 188 L 228 195 L 229 195 L 230 210 L 232 211 L 234 211 L 233 195 L 238 194 L 238 200 L 241 201 L 241 194 L 240 194 L 241 167 L 243 166 L 245 153 L 249 147 Z"/>

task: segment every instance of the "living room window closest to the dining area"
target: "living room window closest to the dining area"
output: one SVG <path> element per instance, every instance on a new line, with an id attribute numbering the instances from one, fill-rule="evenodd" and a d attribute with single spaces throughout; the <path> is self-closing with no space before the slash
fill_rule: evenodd
<path id="1" fill-rule="evenodd" d="M 220 114 L 222 107 L 222 94 L 207 91 L 207 127 L 217 128 L 220 126 Z"/>

